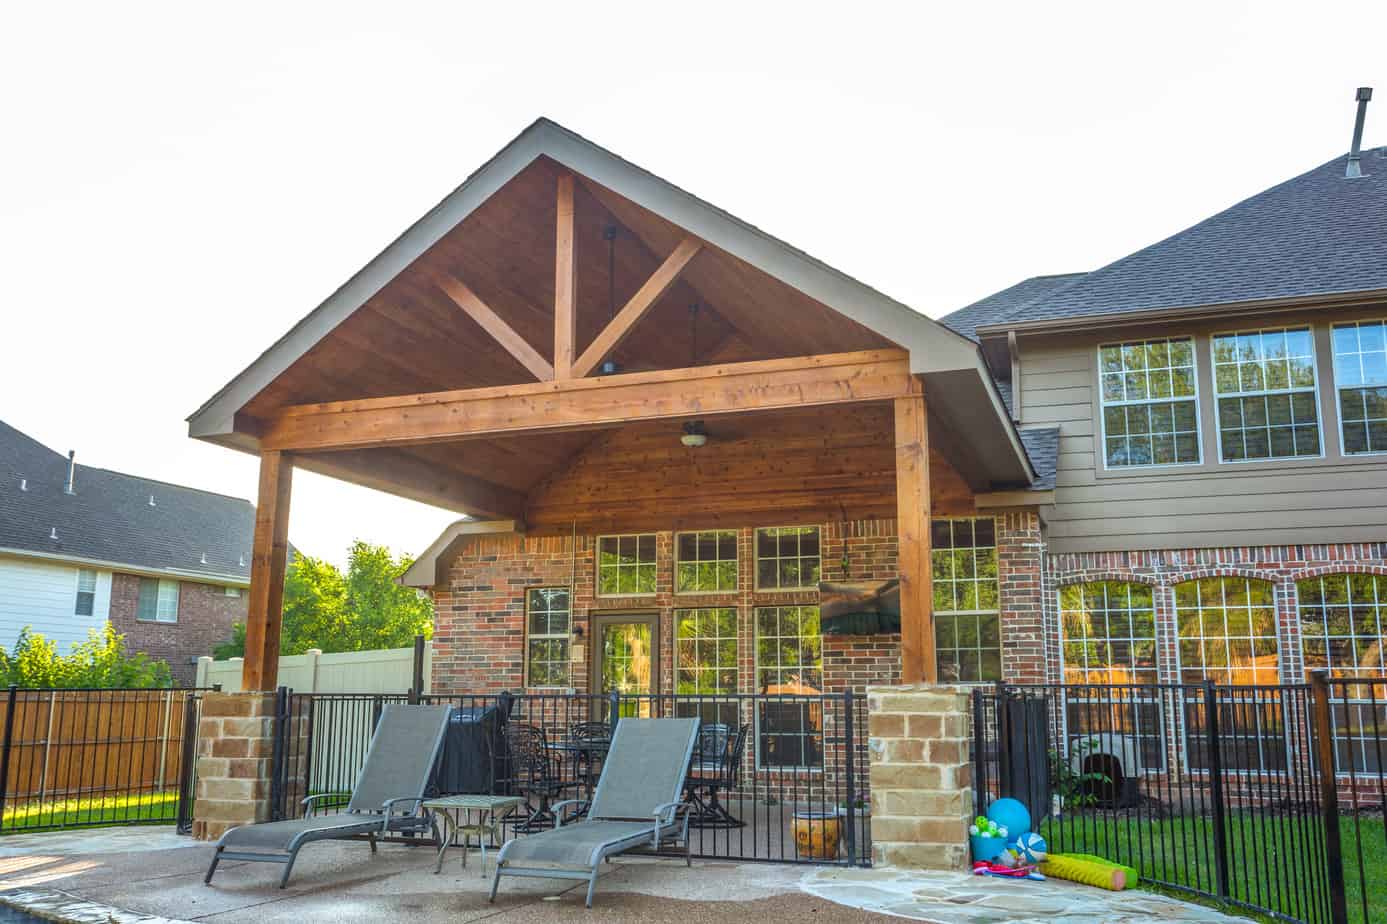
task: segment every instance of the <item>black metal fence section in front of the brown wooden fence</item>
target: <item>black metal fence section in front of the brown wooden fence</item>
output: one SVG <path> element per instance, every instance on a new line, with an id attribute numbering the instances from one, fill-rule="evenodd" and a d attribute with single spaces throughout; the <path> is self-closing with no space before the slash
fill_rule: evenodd
<path id="1" fill-rule="evenodd" d="M 190 828 L 201 692 L 10 687 L 0 694 L 0 832 Z"/>

